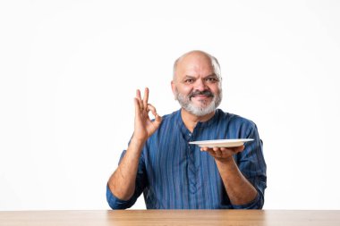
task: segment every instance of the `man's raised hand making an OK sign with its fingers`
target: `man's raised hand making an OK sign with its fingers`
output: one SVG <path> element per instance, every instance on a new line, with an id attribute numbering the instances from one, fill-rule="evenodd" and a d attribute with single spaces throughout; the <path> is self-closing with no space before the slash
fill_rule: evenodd
<path id="1" fill-rule="evenodd" d="M 156 108 L 148 103 L 148 99 L 149 88 L 145 88 L 143 98 L 140 96 L 140 89 L 137 89 L 134 98 L 135 118 L 132 139 L 142 143 L 158 129 L 162 122 L 162 117 L 157 114 Z M 149 111 L 155 116 L 154 121 L 150 120 Z"/>

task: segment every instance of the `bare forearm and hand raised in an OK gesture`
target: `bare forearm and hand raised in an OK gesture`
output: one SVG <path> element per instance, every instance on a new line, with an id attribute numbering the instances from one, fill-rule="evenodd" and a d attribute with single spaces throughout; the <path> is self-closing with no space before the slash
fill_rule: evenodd
<path id="1" fill-rule="evenodd" d="M 142 147 L 162 121 L 155 107 L 148 104 L 148 98 L 148 88 L 145 88 L 143 99 L 140 97 L 140 90 L 137 90 L 134 99 L 135 120 L 132 140 L 121 163 L 107 183 L 112 194 L 121 200 L 128 200 L 134 194 Z M 149 119 L 149 111 L 154 114 L 155 121 Z"/>

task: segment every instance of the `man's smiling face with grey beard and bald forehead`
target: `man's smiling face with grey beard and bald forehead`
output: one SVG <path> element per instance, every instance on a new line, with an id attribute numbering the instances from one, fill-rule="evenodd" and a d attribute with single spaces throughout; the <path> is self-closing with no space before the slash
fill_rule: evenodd
<path id="1" fill-rule="evenodd" d="M 193 53 L 180 60 L 172 88 L 183 109 L 197 116 L 212 113 L 222 100 L 220 78 L 205 54 Z"/>

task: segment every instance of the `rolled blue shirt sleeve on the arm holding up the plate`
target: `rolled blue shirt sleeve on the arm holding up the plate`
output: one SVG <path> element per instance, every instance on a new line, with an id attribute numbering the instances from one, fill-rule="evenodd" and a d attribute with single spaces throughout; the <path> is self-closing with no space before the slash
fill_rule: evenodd
<path id="1" fill-rule="evenodd" d="M 234 209 L 262 209 L 264 205 L 264 192 L 267 188 L 267 166 L 263 156 L 262 140 L 256 125 L 252 126 L 246 133 L 246 138 L 254 140 L 245 143 L 244 150 L 236 155 L 236 163 L 243 176 L 251 182 L 258 191 L 257 196 L 251 203 L 246 205 L 233 205 Z"/>

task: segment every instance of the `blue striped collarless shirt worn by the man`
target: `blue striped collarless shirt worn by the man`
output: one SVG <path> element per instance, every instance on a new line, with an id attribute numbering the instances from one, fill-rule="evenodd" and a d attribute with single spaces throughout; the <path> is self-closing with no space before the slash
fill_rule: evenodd
<path id="1" fill-rule="evenodd" d="M 240 171 L 258 191 L 247 205 L 231 204 L 214 158 L 189 144 L 225 138 L 254 139 L 234 155 Z M 131 199 L 118 199 L 107 186 L 106 199 L 113 209 L 131 207 L 141 193 L 148 209 L 260 209 L 266 187 L 262 141 L 254 122 L 217 109 L 209 121 L 199 122 L 191 133 L 179 110 L 163 116 L 160 127 L 144 145 Z"/>

